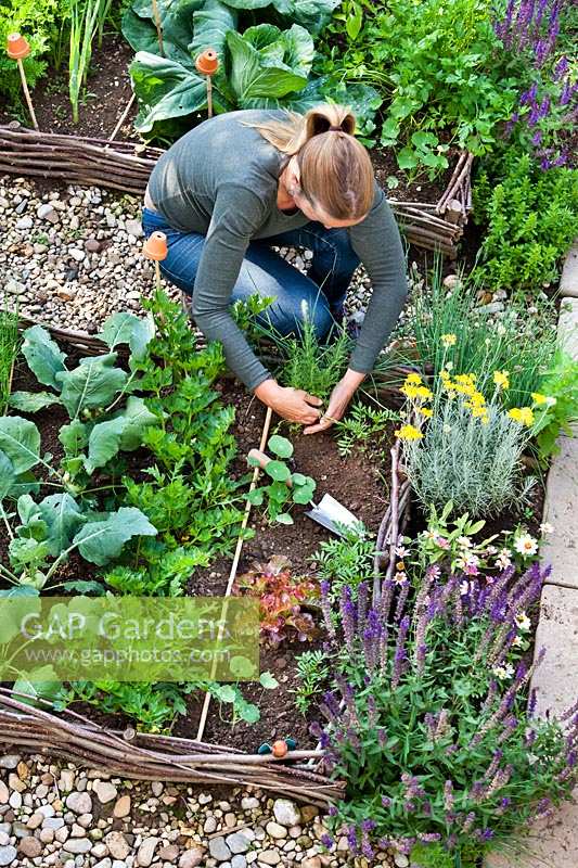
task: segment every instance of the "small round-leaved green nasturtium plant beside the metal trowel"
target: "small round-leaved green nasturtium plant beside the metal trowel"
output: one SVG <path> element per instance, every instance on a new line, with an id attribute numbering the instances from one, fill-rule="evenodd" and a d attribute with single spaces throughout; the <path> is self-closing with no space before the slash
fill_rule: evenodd
<path id="1" fill-rule="evenodd" d="M 292 473 L 286 459 L 293 455 L 293 445 L 286 437 L 273 434 L 267 447 L 277 459 L 269 461 L 264 468 L 265 473 L 271 478 L 269 485 L 261 485 L 247 495 L 254 507 L 260 507 L 267 500 L 267 514 L 272 522 L 293 524 L 293 519 L 287 512 L 292 503 L 306 506 L 313 497 L 317 483 L 311 476 L 303 473 Z M 257 459 L 249 458 L 252 467 L 258 467 Z"/>

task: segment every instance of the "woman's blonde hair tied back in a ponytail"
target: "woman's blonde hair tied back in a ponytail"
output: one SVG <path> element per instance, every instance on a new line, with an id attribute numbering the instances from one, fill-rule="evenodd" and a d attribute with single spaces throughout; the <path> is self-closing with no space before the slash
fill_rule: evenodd
<path id="1" fill-rule="evenodd" d="M 337 220 L 357 220 L 374 196 L 373 166 L 355 138 L 356 118 L 344 105 L 325 103 L 307 114 L 249 124 L 287 156 L 297 156 L 303 194 Z"/>

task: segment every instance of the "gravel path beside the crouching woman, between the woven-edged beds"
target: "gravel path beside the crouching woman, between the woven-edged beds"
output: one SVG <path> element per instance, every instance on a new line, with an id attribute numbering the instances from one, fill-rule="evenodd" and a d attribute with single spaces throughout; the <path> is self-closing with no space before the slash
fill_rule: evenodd
<path id="1" fill-rule="evenodd" d="M 39 193 L 27 178 L 0 177 L 0 290 L 9 306 L 89 334 L 115 310 L 138 312 L 141 295 L 154 290 L 154 268 L 141 252 L 140 208 L 140 199 L 97 187 Z M 307 270 L 308 252 L 281 252 Z M 362 269 L 351 288 L 348 312 L 359 322 L 370 293 Z"/>

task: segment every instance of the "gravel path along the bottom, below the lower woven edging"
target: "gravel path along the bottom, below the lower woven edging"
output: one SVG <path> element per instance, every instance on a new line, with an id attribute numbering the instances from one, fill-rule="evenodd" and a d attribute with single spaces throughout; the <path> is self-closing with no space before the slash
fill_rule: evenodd
<path id="1" fill-rule="evenodd" d="M 319 810 L 258 790 L 210 791 L 111 778 L 39 755 L 0 756 L 0 866 L 55 868 L 336 868 Z M 378 864 L 407 868 L 404 856 Z"/>

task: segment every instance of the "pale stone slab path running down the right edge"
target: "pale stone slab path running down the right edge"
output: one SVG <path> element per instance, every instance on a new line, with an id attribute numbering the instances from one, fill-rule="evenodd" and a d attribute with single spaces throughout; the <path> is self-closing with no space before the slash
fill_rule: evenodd
<path id="1" fill-rule="evenodd" d="M 578 359 L 578 239 L 570 247 L 560 283 L 562 305 L 558 335 L 566 350 Z M 537 714 L 561 715 L 578 697 L 578 431 L 558 438 L 548 475 L 544 522 L 554 531 L 542 546 L 552 573 L 540 600 L 536 653 L 547 649 L 531 687 L 536 688 Z M 523 852 L 494 854 L 485 868 L 576 868 L 578 866 L 578 788 L 553 817 L 536 822 L 523 842 Z"/>

